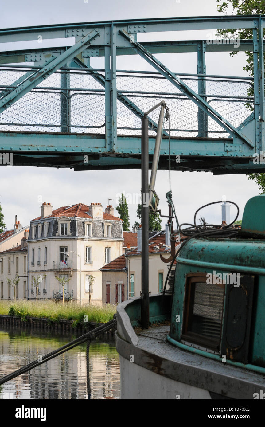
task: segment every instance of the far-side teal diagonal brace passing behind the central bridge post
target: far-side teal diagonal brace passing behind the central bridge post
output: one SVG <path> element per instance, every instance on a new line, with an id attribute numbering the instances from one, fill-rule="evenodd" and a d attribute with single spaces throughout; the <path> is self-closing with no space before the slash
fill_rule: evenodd
<path id="1" fill-rule="evenodd" d="M 87 73 L 89 73 L 89 75 L 92 76 L 93 79 L 95 79 L 98 83 L 100 83 L 100 85 L 105 87 L 105 79 L 101 74 L 99 74 L 97 71 L 94 71 L 92 67 L 88 65 L 84 65 L 84 63 L 80 61 L 78 58 L 74 58 L 73 61 L 79 66 L 82 65 L 82 67 L 86 67 Z M 135 105 L 134 102 L 131 102 L 130 99 L 122 95 L 122 93 L 119 91 L 117 91 L 117 99 L 119 99 L 119 101 L 122 102 L 122 104 L 125 105 L 125 107 L 127 107 L 130 111 L 132 111 L 137 117 L 139 117 L 140 119 L 143 118 L 144 112 L 139 107 L 137 107 L 137 105 Z M 148 118 L 149 127 L 157 131 L 157 123 L 151 120 L 150 117 L 147 117 L 147 118 Z M 166 131 L 163 131 L 163 135 L 168 136 L 168 133 Z"/>

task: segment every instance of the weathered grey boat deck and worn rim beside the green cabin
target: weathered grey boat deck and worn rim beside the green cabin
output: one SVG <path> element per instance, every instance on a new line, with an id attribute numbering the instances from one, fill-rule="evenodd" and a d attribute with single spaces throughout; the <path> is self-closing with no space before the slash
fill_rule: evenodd
<path id="1" fill-rule="evenodd" d="M 228 363 L 220 363 L 194 352 L 183 350 L 166 341 L 170 324 L 154 324 L 149 329 L 135 328 L 137 348 L 148 355 L 149 369 L 159 366 L 157 373 L 186 384 L 237 398 L 253 398 L 253 393 L 265 389 L 264 375 Z M 158 359 L 159 358 L 159 359 Z M 146 360 L 146 367 L 148 365 Z M 225 392 L 226 390 L 226 392 Z M 240 397 L 239 397 L 240 395 Z M 231 397 L 230 397 L 231 398 Z"/>

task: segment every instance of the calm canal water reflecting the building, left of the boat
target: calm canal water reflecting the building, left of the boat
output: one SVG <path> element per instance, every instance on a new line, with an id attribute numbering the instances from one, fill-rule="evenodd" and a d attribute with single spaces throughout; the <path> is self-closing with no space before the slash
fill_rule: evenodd
<path id="1" fill-rule="evenodd" d="M 50 353 L 76 335 L 0 328 L 0 376 Z M 91 399 L 119 399 L 119 356 L 114 339 L 96 339 L 90 351 Z M 0 386 L 0 398 L 87 399 L 86 344 Z"/>

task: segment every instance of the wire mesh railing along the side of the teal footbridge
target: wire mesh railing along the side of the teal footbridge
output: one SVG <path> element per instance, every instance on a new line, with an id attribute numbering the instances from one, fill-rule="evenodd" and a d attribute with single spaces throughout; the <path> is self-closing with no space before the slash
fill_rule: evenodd
<path id="1" fill-rule="evenodd" d="M 0 97 L 30 75 L 30 69 L 1 69 Z M 251 80 L 180 76 L 225 120 L 238 127 L 253 107 Z M 172 82 L 157 74 L 117 73 L 117 134 L 140 135 L 141 111 L 165 99 L 174 137 L 227 137 L 229 133 Z M 110 110 L 109 110 L 110 112 Z M 0 114 L 0 130 L 105 134 L 105 76 L 81 70 L 59 70 Z M 153 111 L 150 135 L 156 135 Z M 166 124 L 167 126 L 167 124 Z"/>

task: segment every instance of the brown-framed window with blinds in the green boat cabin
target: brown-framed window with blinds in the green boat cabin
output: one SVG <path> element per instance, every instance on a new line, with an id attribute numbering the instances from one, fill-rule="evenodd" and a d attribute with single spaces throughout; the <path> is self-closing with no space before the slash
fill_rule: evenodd
<path id="1" fill-rule="evenodd" d="M 207 284 L 206 274 L 187 275 L 181 339 L 220 349 L 224 284 Z"/>

